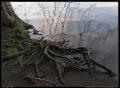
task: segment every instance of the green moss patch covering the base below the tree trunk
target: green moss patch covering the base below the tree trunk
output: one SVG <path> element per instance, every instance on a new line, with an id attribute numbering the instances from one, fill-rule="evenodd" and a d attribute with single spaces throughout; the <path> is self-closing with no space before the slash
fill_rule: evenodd
<path id="1" fill-rule="evenodd" d="M 16 40 L 25 40 L 29 38 L 29 35 L 22 23 L 16 23 L 13 27 L 2 25 L 1 37 L 2 56 L 4 56 L 20 51 L 21 49 Z"/>

